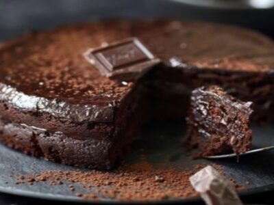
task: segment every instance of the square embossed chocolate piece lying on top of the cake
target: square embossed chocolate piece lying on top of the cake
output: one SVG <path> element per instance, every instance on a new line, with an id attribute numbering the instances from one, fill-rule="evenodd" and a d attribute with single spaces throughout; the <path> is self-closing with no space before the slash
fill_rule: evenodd
<path id="1" fill-rule="evenodd" d="M 137 38 L 88 49 L 84 57 L 95 64 L 103 76 L 123 80 L 137 79 L 160 62 Z"/>

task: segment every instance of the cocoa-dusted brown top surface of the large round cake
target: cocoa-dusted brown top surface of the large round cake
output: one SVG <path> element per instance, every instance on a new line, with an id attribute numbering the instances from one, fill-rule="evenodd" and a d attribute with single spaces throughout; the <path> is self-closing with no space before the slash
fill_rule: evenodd
<path id="1" fill-rule="evenodd" d="M 274 68 L 273 40 L 260 33 L 211 23 L 109 21 L 30 33 L 0 50 L 0 81 L 28 95 L 71 104 L 120 100 L 134 82 L 102 77 L 84 57 L 90 48 L 136 37 L 164 64 L 244 71 Z"/>

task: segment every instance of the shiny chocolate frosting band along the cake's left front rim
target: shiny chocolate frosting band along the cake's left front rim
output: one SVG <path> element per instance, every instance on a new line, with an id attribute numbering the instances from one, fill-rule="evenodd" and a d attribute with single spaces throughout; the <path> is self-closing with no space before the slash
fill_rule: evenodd
<path id="1" fill-rule="evenodd" d="M 16 109 L 51 113 L 56 118 L 64 118 L 73 122 L 112 122 L 115 106 L 115 101 L 110 101 L 108 105 L 83 106 L 69 104 L 57 98 L 48 100 L 47 98 L 28 96 L 3 83 L 0 83 L 0 100 L 8 102 Z"/>

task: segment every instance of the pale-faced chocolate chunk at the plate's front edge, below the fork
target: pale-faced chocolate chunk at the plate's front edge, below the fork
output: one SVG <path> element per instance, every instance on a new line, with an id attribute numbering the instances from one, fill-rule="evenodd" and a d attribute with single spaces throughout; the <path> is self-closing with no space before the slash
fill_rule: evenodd
<path id="1" fill-rule="evenodd" d="M 190 183 L 207 205 L 242 205 L 234 185 L 212 166 L 192 175 Z"/>

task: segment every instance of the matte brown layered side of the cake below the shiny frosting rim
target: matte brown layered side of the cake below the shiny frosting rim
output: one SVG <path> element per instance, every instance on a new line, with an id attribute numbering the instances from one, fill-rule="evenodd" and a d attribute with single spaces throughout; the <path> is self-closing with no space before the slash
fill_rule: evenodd
<path id="1" fill-rule="evenodd" d="M 125 96 L 120 106 L 114 108 L 113 122 L 72 122 L 49 113 L 0 103 L 0 141 L 50 161 L 112 169 L 123 148 L 134 139 L 140 124 L 146 120 L 145 107 L 140 109 L 145 103 L 145 100 L 140 102 L 144 92 L 142 86 L 138 86 Z"/>

